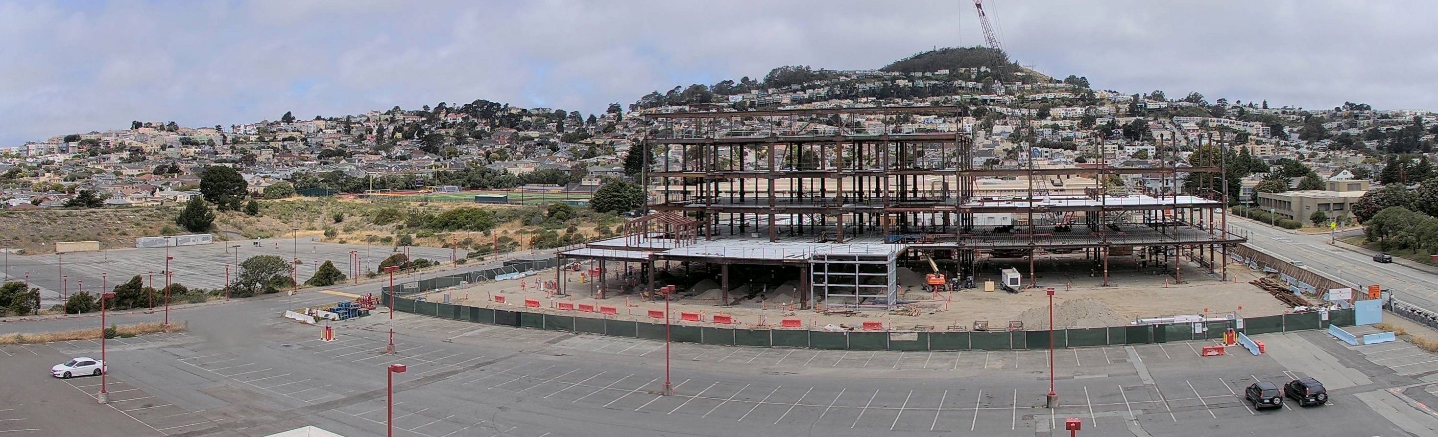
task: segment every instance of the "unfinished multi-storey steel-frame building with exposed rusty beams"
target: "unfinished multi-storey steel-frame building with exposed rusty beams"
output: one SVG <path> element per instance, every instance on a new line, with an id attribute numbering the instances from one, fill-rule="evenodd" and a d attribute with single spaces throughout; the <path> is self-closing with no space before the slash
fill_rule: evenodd
<path id="1" fill-rule="evenodd" d="M 958 128 L 894 129 L 897 116 L 958 119 L 961 111 L 650 114 L 683 132 L 643 145 L 656 154 L 643 177 L 651 214 L 628 223 L 623 237 L 559 257 L 628 263 L 633 285 L 647 290 L 663 286 L 663 270 L 706 269 L 718 273 L 726 299 L 732 267 L 787 267 L 798 273 L 797 303 L 811 308 L 893 305 L 905 260 L 942 269 L 929 276 L 942 288 L 997 276 L 988 263 L 997 259 L 1020 276 L 1005 285 L 1035 286 L 1041 256 L 1086 263 L 1103 285 L 1110 259 L 1152 264 L 1181 282 L 1183 260 L 1218 273 L 1224 247 L 1244 242 L 1227 230 L 1224 154 L 1189 165 L 1172 152 L 1176 147 L 1160 147 L 1159 167 L 1109 167 L 1099 152 L 1097 162 L 1074 167 L 1035 168 L 1020 158 L 1017 167 L 995 168 L 975 162 L 972 137 Z M 787 126 L 738 128 L 752 118 Z M 876 128 L 876 119 L 892 124 Z M 1114 183 L 1132 174 L 1156 178 L 1159 188 Z"/>

